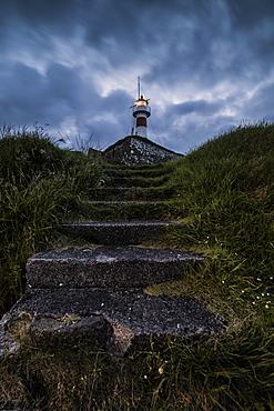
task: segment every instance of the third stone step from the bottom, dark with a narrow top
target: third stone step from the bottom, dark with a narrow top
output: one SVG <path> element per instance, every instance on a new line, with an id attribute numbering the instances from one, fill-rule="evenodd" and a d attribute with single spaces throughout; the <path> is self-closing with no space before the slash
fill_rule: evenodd
<path id="1" fill-rule="evenodd" d="M 141 244 L 151 237 L 182 224 L 164 221 L 103 221 L 60 224 L 58 231 L 73 238 L 82 238 L 95 244 Z"/>

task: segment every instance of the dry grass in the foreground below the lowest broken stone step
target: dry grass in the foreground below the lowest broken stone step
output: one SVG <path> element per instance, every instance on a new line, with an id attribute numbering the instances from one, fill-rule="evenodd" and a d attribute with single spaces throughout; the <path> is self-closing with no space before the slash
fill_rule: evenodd
<path id="1" fill-rule="evenodd" d="M 273 365 L 271 339 L 246 320 L 219 339 L 152 342 L 122 359 L 24 341 L 0 383 L 2 398 L 27 410 L 271 410 Z"/>

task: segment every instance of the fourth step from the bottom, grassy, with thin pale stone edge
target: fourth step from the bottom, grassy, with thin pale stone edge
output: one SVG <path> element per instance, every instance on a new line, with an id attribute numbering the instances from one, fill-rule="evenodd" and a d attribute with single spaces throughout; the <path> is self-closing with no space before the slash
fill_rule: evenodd
<path id="1" fill-rule="evenodd" d="M 181 200 L 172 201 L 82 201 L 74 215 L 68 214 L 67 221 L 131 221 L 170 220 L 186 215 Z"/>

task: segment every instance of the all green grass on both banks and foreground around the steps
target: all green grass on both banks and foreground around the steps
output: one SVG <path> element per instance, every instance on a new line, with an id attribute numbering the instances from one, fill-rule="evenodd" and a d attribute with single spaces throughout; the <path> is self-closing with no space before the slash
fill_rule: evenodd
<path id="1" fill-rule="evenodd" d="M 82 219 L 93 215 L 87 199 L 101 179 L 85 156 L 60 150 L 37 132 L 0 140 L 4 159 L 13 142 L 17 154 L 13 146 L 9 169 L 0 169 L 6 308 L 22 291 L 26 259 L 45 247 L 54 222 L 77 218 L 78 210 Z M 24 167 L 24 159 L 33 167 Z M 200 298 L 227 321 L 227 331 L 209 339 L 151 341 L 146 352 L 125 358 L 26 337 L 20 355 L 0 365 L 0 404 L 73 411 L 274 410 L 274 126 L 239 128 L 163 169 L 169 178 L 163 186 L 175 191 L 166 199 L 169 208 L 160 207 L 165 214 L 154 208 L 154 219 L 182 220 L 184 227 L 153 244 L 209 259 L 186 279 L 148 291 Z M 150 172 L 150 179 L 160 176 Z M 134 207 L 134 218 L 142 217 L 143 206 Z"/>

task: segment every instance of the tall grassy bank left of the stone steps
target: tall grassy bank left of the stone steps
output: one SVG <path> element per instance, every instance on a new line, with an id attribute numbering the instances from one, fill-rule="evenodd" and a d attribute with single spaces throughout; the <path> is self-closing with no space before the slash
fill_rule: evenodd
<path id="1" fill-rule="evenodd" d="M 54 223 L 99 179 L 84 154 L 59 149 L 42 130 L 2 130 L 0 314 L 22 293 L 26 260 L 45 247 Z"/>

